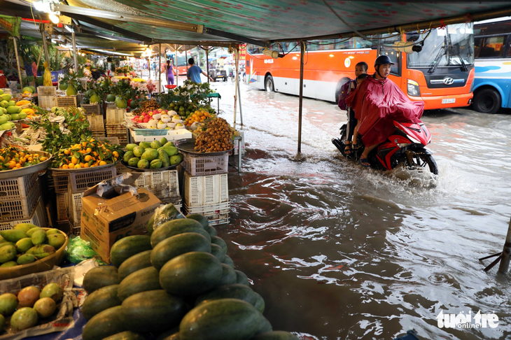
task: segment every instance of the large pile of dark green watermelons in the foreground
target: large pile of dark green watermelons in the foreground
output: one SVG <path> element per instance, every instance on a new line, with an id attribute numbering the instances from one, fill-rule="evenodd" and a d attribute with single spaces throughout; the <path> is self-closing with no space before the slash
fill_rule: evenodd
<path id="1" fill-rule="evenodd" d="M 157 225 L 153 215 L 148 235 L 114 243 L 115 267 L 87 272 L 83 340 L 297 340 L 272 330 L 207 218 L 176 217 Z"/>

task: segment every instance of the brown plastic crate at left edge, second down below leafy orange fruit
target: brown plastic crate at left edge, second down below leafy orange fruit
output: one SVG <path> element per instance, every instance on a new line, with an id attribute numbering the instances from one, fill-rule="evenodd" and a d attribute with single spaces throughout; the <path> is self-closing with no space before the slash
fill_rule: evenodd
<path id="1" fill-rule="evenodd" d="M 40 197 L 41 187 L 36 180 L 26 198 L 0 199 L 0 221 L 10 222 L 30 218 Z"/>

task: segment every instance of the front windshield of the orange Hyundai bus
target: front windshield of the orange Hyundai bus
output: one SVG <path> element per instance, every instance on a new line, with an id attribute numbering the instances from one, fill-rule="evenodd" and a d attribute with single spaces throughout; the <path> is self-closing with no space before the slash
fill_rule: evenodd
<path id="1" fill-rule="evenodd" d="M 421 41 L 426 34 L 407 34 L 407 41 Z M 433 29 L 421 52 L 407 54 L 407 66 L 413 69 L 474 64 L 473 45 L 472 24 L 451 24 L 444 29 Z"/>

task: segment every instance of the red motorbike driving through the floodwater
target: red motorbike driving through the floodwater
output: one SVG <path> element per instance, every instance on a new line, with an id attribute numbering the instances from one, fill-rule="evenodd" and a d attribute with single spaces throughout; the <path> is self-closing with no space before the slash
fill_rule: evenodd
<path id="1" fill-rule="evenodd" d="M 431 134 L 423 122 L 396 122 L 395 131 L 388 139 L 371 151 L 367 157 L 373 169 L 392 170 L 402 164 L 410 170 L 422 172 L 424 169 L 435 175 L 438 167 L 433 159 L 433 153 L 426 149 L 431 142 Z M 346 124 L 341 127 L 340 138 L 332 139 L 332 143 L 342 153 L 350 158 L 360 157 L 362 150 L 351 150 L 350 155 L 344 152 L 346 148 Z M 359 139 L 358 145 L 363 145 Z"/>

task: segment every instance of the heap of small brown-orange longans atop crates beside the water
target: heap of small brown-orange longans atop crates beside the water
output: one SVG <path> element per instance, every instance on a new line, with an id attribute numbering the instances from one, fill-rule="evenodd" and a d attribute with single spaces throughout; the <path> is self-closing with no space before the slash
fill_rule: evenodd
<path id="1" fill-rule="evenodd" d="M 215 118 L 207 123 L 195 140 L 195 150 L 201 153 L 216 153 L 231 150 L 233 147 L 232 131 L 223 118 Z"/>

